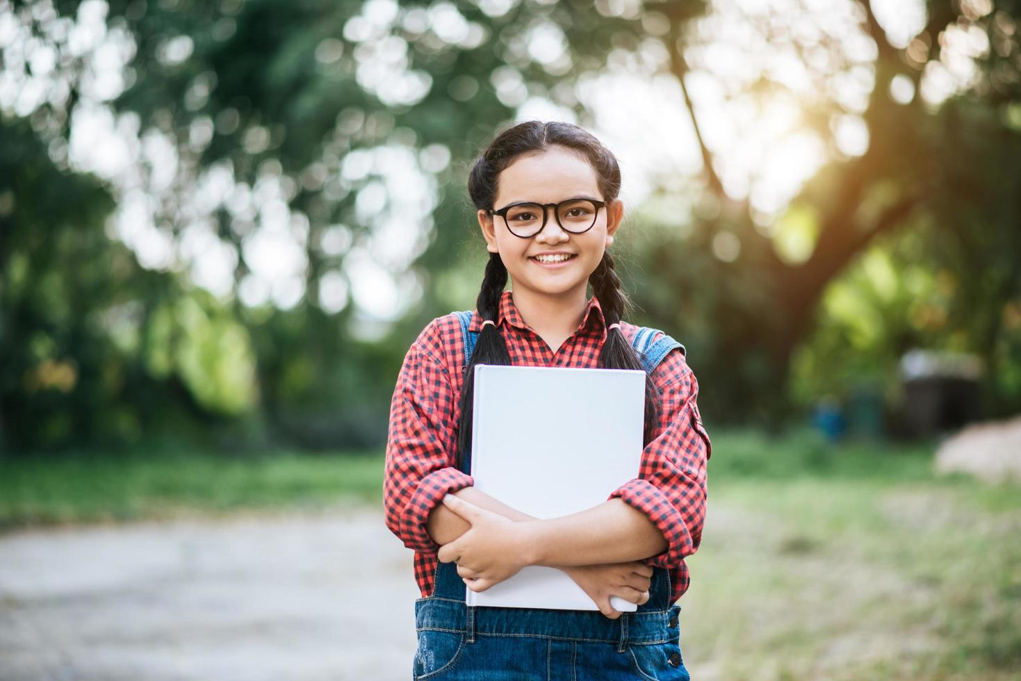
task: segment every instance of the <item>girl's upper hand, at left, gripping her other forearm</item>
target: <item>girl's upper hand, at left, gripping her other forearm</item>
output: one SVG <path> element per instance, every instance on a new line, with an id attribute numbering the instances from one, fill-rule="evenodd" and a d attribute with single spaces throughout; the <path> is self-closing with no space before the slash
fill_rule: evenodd
<path id="1" fill-rule="evenodd" d="M 444 544 L 438 553 L 440 563 L 457 564 L 457 574 L 468 588 L 485 591 L 529 565 L 526 524 L 480 508 L 453 494 L 444 496 L 443 504 L 472 524 L 468 532 Z"/>

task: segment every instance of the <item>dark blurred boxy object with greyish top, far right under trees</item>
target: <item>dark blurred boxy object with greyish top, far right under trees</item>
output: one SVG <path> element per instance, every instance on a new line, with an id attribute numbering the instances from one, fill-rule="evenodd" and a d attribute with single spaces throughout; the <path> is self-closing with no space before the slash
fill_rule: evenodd
<path id="1" fill-rule="evenodd" d="M 912 350 L 901 358 L 904 404 L 898 430 L 908 437 L 957 431 L 981 417 L 978 357 Z"/>

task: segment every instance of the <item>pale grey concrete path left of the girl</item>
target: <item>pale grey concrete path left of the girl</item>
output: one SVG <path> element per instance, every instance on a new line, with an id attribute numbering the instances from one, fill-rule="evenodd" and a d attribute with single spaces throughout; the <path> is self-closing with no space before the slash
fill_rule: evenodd
<path id="1" fill-rule="evenodd" d="M 374 509 L 0 535 L 0 680 L 408 679 L 418 596 Z"/>

